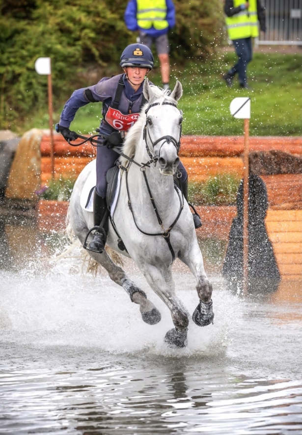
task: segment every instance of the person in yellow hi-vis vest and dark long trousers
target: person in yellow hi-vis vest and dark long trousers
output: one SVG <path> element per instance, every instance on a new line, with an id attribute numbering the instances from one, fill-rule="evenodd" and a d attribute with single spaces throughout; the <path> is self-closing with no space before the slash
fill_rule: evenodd
<path id="1" fill-rule="evenodd" d="M 229 39 L 232 40 L 238 62 L 223 76 L 226 84 L 233 85 L 233 77 L 238 73 L 239 86 L 249 89 L 247 85 L 247 64 L 252 59 L 252 39 L 265 32 L 265 9 L 260 0 L 225 0 L 224 12 Z"/>

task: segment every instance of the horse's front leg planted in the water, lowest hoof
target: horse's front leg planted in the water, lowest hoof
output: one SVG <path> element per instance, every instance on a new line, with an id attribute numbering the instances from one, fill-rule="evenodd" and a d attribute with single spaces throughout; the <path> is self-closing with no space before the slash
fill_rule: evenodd
<path id="1" fill-rule="evenodd" d="M 189 316 L 182 302 L 174 293 L 174 283 L 170 270 L 162 271 L 160 268 L 150 264 L 143 264 L 140 268 L 150 287 L 171 312 L 175 328 L 166 333 L 165 342 L 177 347 L 185 347 L 187 345 Z"/>

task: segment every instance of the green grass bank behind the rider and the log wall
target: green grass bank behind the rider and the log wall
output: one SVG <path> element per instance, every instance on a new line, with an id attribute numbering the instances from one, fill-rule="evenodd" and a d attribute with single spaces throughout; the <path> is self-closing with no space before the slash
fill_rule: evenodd
<path id="1" fill-rule="evenodd" d="M 231 117 L 229 105 L 235 97 L 248 96 L 251 98 L 250 135 L 301 135 L 302 54 L 254 53 L 248 67 L 252 91 L 239 89 L 236 80 L 230 89 L 222 80 L 235 61 L 235 53 L 227 51 L 207 63 L 172 65 L 171 86 L 178 79 L 184 90 L 179 102 L 184 112 L 183 134 L 241 135 L 243 121 Z M 158 67 L 149 78 L 161 85 Z M 62 106 L 54 114 L 54 122 L 58 122 L 61 109 Z M 94 132 L 99 126 L 101 109 L 100 103 L 82 107 L 71 128 L 83 134 Z M 35 114 L 22 128 L 33 127 L 48 128 L 47 113 Z"/>

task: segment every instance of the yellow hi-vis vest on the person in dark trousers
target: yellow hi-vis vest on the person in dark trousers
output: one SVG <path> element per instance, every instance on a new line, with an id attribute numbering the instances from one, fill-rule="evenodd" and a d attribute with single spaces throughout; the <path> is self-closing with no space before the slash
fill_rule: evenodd
<path id="1" fill-rule="evenodd" d="M 257 0 L 248 0 L 248 2 L 248 9 L 225 19 L 228 37 L 231 40 L 259 36 Z M 234 0 L 234 7 L 245 3 L 246 0 Z"/>

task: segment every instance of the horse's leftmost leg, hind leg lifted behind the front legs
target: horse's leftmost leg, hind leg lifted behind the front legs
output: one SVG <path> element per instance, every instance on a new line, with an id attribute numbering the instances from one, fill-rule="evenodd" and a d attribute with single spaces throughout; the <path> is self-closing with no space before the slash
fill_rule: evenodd
<path id="1" fill-rule="evenodd" d="M 123 269 L 111 260 L 106 250 L 103 254 L 89 252 L 89 255 L 107 270 L 112 281 L 121 285 L 124 290 L 126 290 L 131 301 L 139 305 L 139 311 L 145 323 L 155 325 L 161 320 L 161 313 L 152 302 L 147 299 L 145 292 L 137 287 L 137 285 L 127 277 Z"/>

